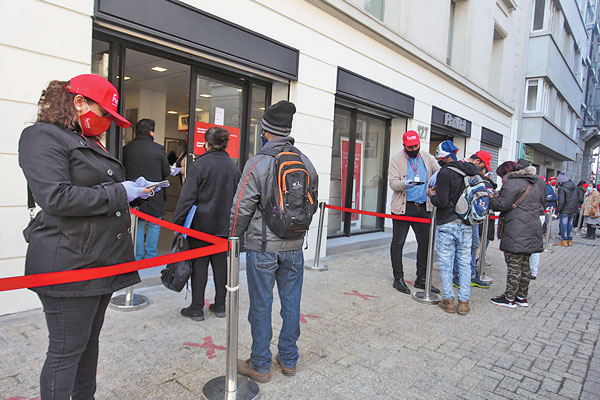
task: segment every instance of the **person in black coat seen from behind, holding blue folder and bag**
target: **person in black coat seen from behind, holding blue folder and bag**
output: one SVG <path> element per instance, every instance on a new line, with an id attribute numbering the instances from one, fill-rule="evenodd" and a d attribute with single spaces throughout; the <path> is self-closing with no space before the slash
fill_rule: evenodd
<path id="1" fill-rule="evenodd" d="M 190 166 L 173 222 L 183 225 L 192 205 L 196 214 L 191 228 L 223 238 L 229 235 L 229 211 L 240 180 L 240 170 L 225 152 L 229 132 L 220 127 L 206 131 L 202 154 Z M 188 237 L 191 249 L 204 247 L 208 243 Z M 227 253 L 218 253 L 193 260 L 192 304 L 181 310 L 181 315 L 194 321 L 204 320 L 204 290 L 208 279 L 208 263 L 211 263 L 215 281 L 215 302 L 209 310 L 217 317 L 225 317 L 225 284 L 227 283 Z"/>

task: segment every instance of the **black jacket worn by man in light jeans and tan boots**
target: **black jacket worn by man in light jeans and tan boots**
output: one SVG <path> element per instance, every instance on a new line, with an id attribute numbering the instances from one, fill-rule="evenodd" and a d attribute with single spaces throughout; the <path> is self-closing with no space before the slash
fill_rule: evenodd
<path id="1" fill-rule="evenodd" d="M 437 207 L 435 220 L 438 225 L 460 218 L 454 211 L 454 207 L 465 190 L 464 176 L 448 167 L 460 169 L 467 176 L 479 173 L 479 168 L 475 164 L 466 161 L 452 161 L 444 164 L 440 169 L 436 180 L 435 195 L 431 197 L 431 204 Z"/>

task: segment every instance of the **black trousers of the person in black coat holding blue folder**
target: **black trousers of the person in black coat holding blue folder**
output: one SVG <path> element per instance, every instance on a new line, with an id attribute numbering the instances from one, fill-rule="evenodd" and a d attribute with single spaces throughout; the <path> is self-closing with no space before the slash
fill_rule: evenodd
<path id="1" fill-rule="evenodd" d="M 190 248 L 208 246 L 209 243 L 189 238 Z M 213 278 L 215 279 L 215 304 L 225 305 L 227 290 L 227 252 L 213 254 L 211 256 L 195 258 L 192 261 L 192 308 L 204 307 L 204 291 L 208 281 L 208 264 L 212 265 Z"/>

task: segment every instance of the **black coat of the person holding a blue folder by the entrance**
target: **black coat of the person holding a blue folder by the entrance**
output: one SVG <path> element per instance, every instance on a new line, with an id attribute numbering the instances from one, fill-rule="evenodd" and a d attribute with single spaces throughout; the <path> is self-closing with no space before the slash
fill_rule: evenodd
<path id="1" fill-rule="evenodd" d="M 181 189 L 173 222 L 183 225 L 192 207 L 192 229 L 215 236 L 229 235 L 229 212 L 240 180 L 240 170 L 225 151 L 210 150 L 190 166 Z M 201 243 L 190 239 L 190 247 Z"/>

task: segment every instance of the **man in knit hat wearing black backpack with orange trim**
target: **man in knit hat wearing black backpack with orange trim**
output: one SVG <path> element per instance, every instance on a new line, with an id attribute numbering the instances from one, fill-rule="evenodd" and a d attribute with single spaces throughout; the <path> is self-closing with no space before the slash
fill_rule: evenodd
<path id="1" fill-rule="evenodd" d="M 238 373 L 271 380 L 273 286 L 283 323 L 276 361 L 286 376 L 296 374 L 300 336 L 300 297 L 304 276 L 302 244 L 318 208 L 319 177 L 310 160 L 293 147 L 296 107 L 282 100 L 262 118 L 262 150 L 244 166 L 231 209 L 231 236 L 246 235 L 246 274 L 252 332 L 250 358 L 238 360 Z"/>

